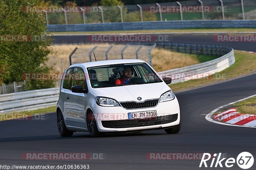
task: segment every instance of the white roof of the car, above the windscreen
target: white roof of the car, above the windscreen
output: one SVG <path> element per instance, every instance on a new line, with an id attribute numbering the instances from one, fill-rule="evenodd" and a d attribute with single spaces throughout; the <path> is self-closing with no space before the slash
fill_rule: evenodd
<path id="1" fill-rule="evenodd" d="M 124 63 L 146 63 L 143 60 L 139 59 L 122 59 L 122 60 L 104 60 L 104 61 L 95 61 L 95 62 L 88 62 L 88 63 L 81 63 L 81 64 L 73 64 L 71 66 L 81 66 L 84 65 L 84 67 L 95 67 L 95 66 L 101 66 L 101 65 L 111 65 L 111 64 L 124 64 Z"/>

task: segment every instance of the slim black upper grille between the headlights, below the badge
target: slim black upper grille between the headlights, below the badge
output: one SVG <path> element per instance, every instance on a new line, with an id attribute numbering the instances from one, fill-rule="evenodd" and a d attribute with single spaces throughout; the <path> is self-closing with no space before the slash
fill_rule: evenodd
<path id="1" fill-rule="evenodd" d="M 159 99 L 146 100 L 144 102 L 120 102 L 121 106 L 126 109 L 137 109 L 137 108 L 146 108 L 146 107 L 155 107 L 158 104 Z"/>

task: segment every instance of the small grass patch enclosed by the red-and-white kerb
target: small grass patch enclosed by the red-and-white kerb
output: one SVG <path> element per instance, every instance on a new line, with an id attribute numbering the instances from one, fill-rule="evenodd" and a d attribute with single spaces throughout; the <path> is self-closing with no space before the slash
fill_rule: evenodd
<path id="1" fill-rule="evenodd" d="M 233 105 L 237 111 L 244 114 L 256 114 L 256 97 L 240 101 Z"/>

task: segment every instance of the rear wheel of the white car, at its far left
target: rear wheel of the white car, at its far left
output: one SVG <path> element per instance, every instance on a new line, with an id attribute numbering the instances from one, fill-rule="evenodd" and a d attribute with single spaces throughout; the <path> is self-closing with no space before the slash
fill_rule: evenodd
<path id="1" fill-rule="evenodd" d="M 57 111 L 57 126 L 58 126 L 60 136 L 62 137 L 71 137 L 74 133 L 74 131 L 67 129 L 60 109 Z"/>

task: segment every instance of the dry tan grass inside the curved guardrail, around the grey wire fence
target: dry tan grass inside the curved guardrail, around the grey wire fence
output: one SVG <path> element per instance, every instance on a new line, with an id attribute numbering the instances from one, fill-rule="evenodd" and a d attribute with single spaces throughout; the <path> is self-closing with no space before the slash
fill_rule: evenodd
<path id="1" fill-rule="evenodd" d="M 53 64 L 53 56 L 55 56 L 56 58 L 56 65 L 54 65 L 55 70 L 57 72 L 62 72 L 61 58 L 64 61 L 63 62 L 64 68 L 66 69 L 69 66 L 68 55 L 73 51 L 75 47 L 93 48 L 94 46 L 108 47 L 110 46 L 110 44 L 104 43 L 104 44 L 79 44 L 79 45 L 76 45 L 76 44 L 53 45 L 52 46 L 53 54 L 48 55 L 48 57 L 50 58 L 48 65 Z M 123 47 L 123 45 L 115 45 L 115 46 Z M 109 51 L 109 53 L 110 52 L 111 50 Z M 210 55 L 196 55 L 196 54 L 172 52 L 164 48 L 154 48 L 151 54 L 152 54 L 153 68 L 157 72 L 170 70 L 174 68 L 185 67 L 185 66 L 189 66 L 197 63 L 202 63 L 202 62 L 209 61 L 216 58 L 215 56 L 210 56 Z"/>

